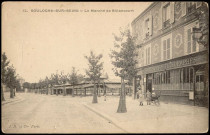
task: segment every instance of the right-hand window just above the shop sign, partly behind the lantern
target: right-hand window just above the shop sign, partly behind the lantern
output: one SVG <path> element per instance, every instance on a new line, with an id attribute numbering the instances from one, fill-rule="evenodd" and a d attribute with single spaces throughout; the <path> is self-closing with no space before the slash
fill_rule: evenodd
<path id="1" fill-rule="evenodd" d="M 192 28 L 187 30 L 187 53 L 196 52 L 196 41 L 192 38 Z"/>

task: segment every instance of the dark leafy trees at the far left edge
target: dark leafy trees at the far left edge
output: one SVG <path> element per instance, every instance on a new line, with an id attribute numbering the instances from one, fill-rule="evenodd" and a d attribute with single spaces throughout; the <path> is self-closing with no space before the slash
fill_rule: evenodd
<path id="1" fill-rule="evenodd" d="M 15 89 L 21 89 L 20 80 L 13 65 L 10 65 L 5 52 L 1 54 L 1 100 L 4 101 L 3 85 L 10 88 L 10 98 L 14 98 Z"/>

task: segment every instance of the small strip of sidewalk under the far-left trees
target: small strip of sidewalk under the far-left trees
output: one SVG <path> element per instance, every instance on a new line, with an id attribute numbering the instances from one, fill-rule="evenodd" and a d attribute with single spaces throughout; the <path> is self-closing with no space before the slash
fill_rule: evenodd
<path id="1" fill-rule="evenodd" d="M 15 103 L 15 102 L 20 102 L 23 101 L 23 97 L 21 96 L 22 93 L 16 92 L 14 98 L 10 98 L 10 92 L 4 92 L 4 98 L 5 101 L 2 101 L 2 105 L 8 104 L 8 103 Z"/>

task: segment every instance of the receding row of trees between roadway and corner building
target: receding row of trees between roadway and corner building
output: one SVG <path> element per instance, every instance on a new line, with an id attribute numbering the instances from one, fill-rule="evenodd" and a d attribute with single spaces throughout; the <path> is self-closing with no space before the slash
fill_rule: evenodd
<path id="1" fill-rule="evenodd" d="M 125 28 L 120 30 L 120 35 L 114 34 L 114 50 L 111 50 L 110 57 L 112 64 L 114 65 L 113 71 L 116 76 L 121 78 L 121 92 L 118 106 L 118 113 L 127 112 L 126 100 L 125 100 L 125 83 L 124 80 L 132 82 L 133 77 L 136 75 L 135 66 L 137 60 L 137 47 L 135 45 L 135 37 L 131 35 L 130 29 Z M 102 54 L 96 55 L 93 51 L 90 51 L 89 56 L 85 56 L 88 61 L 88 69 L 86 75 L 89 81 L 94 84 L 93 100 L 92 103 L 98 103 L 96 84 L 100 81 L 103 70 L 103 62 L 101 62 Z M 87 79 L 86 78 L 86 79 Z M 77 84 L 84 80 L 82 75 L 77 75 L 75 68 L 72 68 L 71 74 L 51 74 L 51 77 L 46 77 L 44 80 L 40 80 L 38 83 L 24 83 L 25 88 L 47 88 L 52 85 L 65 84 Z"/>

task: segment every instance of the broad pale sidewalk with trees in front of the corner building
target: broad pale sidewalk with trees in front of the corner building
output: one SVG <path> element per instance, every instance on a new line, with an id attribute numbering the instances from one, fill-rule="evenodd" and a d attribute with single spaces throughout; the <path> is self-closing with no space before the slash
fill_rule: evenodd
<path id="1" fill-rule="evenodd" d="M 119 97 L 103 96 L 98 104 L 84 104 L 128 133 L 203 133 L 208 131 L 208 109 L 204 107 L 165 104 L 139 106 L 138 100 L 126 97 L 126 113 L 116 113 Z"/>

